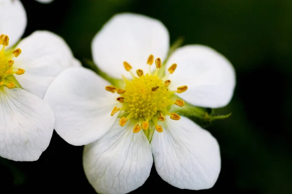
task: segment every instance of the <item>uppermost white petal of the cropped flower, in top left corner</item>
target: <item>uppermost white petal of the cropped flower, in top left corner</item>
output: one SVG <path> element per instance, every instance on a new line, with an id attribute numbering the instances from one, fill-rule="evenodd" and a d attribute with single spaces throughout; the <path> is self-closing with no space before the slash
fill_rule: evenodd
<path id="1" fill-rule="evenodd" d="M 0 34 L 9 36 L 9 47 L 23 35 L 27 23 L 25 9 L 20 0 L 0 1 Z"/>

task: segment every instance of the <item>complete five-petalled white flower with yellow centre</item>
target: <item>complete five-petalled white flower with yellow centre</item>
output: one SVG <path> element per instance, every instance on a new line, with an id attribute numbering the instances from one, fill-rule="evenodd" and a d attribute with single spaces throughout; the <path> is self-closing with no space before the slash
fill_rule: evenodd
<path id="1" fill-rule="evenodd" d="M 172 108 L 183 106 L 183 100 L 225 106 L 233 96 L 234 69 L 215 50 L 189 45 L 170 56 L 164 75 L 168 49 L 169 35 L 160 21 L 119 14 L 94 37 L 92 56 L 115 79 L 129 71 L 124 84 L 113 86 L 78 67 L 64 71 L 48 88 L 44 99 L 55 112 L 55 130 L 72 145 L 87 145 L 83 166 L 97 193 L 137 189 L 148 178 L 153 158 L 161 178 L 181 189 L 211 188 L 219 176 L 216 139 Z"/>

